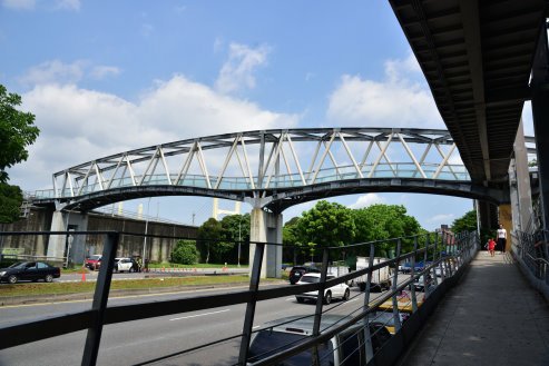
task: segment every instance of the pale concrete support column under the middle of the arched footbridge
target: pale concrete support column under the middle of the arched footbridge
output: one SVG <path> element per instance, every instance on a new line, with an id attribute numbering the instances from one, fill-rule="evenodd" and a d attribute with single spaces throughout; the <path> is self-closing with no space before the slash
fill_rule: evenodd
<path id="1" fill-rule="evenodd" d="M 282 265 L 282 214 L 271 214 L 254 208 L 251 212 L 249 241 L 275 243 L 267 245 L 262 263 L 262 278 L 281 278 Z M 254 258 L 255 244 L 249 244 L 249 258 Z M 252 268 L 251 268 L 252 270 Z"/>

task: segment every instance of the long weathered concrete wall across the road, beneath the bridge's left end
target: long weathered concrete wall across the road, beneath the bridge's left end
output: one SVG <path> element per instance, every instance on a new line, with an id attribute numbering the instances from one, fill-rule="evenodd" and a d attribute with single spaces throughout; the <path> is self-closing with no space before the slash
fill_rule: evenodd
<path id="1" fill-rule="evenodd" d="M 12 224 L 0 224 L 0 231 L 50 231 L 55 211 L 43 208 L 31 208 L 28 218 L 22 218 Z M 61 222 L 56 230 L 80 231 L 124 231 L 120 235 L 120 245 L 117 256 L 143 256 L 145 244 L 145 226 L 143 220 L 122 218 L 117 216 L 79 212 L 57 212 Z M 195 239 L 198 228 L 195 226 L 174 225 L 165 222 L 147 224 L 147 254 L 151 261 L 168 260 L 171 249 L 178 239 Z M 72 263 L 82 263 L 84 258 L 92 254 L 101 254 L 105 235 L 71 235 L 63 236 L 24 235 L 0 236 L 0 249 L 12 248 L 19 254 L 32 256 L 60 256 L 67 255 L 70 243 L 69 257 Z M 55 255 L 52 255 L 55 253 Z"/>

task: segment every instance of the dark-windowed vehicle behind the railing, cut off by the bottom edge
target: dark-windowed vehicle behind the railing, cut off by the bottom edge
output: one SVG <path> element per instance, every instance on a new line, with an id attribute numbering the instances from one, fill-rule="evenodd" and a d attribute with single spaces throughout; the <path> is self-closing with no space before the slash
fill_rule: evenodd
<path id="1" fill-rule="evenodd" d="M 321 333 L 331 330 L 334 326 L 343 324 L 345 319 L 347 318 L 343 315 L 323 315 Z M 291 316 L 266 323 L 252 336 L 248 362 L 256 363 L 307 340 L 313 335 L 313 326 L 314 317 L 303 316 Z M 313 363 L 314 353 L 307 349 L 276 365 L 366 365 L 366 358 L 370 359 L 373 355 L 366 357 L 366 347 L 363 346 L 364 332 L 361 332 L 364 326 L 365 322 L 360 320 L 320 344 L 318 359 L 315 363 Z M 370 335 L 374 354 L 391 338 L 389 330 L 376 322 L 370 322 Z"/>

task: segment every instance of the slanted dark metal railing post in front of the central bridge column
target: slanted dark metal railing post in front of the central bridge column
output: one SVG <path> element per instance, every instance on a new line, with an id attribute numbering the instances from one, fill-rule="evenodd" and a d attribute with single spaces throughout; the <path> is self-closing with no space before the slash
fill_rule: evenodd
<path id="1" fill-rule="evenodd" d="M 259 289 L 259 279 L 262 274 L 263 253 L 265 243 L 255 243 L 254 263 L 249 278 L 249 291 L 254 293 L 252 300 L 246 306 L 244 317 L 244 327 L 242 330 L 241 352 L 238 355 L 238 365 L 246 365 L 248 358 L 249 342 L 252 339 L 252 329 L 254 327 L 255 306 L 257 305 L 257 290 Z"/>

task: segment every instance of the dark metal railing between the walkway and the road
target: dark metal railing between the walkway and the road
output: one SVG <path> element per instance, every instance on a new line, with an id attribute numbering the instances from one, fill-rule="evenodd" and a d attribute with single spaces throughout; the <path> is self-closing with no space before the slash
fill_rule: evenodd
<path id="1" fill-rule="evenodd" d="M 48 233 L 48 235 L 67 235 L 68 233 Z M 199 348 L 206 348 L 216 343 L 223 343 L 228 339 L 241 339 L 238 362 L 236 365 L 249 364 L 248 350 L 251 339 L 254 333 L 261 329 L 253 329 L 254 317 L 256 313 L 256 305 L 258 301 L 280 298 L 290 295 L 298 295 L 306 291 L 317 290 L 318 296 L 316 300 L 316 307 L 314 311 L 315 326 L 313 335 L 305 342 L 298 345 L 288 345 L 282 352 L 272 355 L 267 358 L 257 360 L 253 365 L 269 365 L 277 360 L 285 359 L 292 355 L 300 354 L 306 349 L 314 348 L 318 344 L 325 342 L 334 334 L 337 334 L 342 329 L 345 329 L 352 325 L 359 324 L 359 322 L 366 320 L 373 316 L 374 311 L 378 311 L 385 306 L 385 311 L 392 311 L 394 325 L 396 332 L 401 332 L 405 325 L 400 320 L 399 314 L 402 311 L 409 311 L 411 317 L 415 313 L 420 313 L 421 309 L 428 308 L 431 299 L 435 301 L 440 298 L 440 289 L 443 289 L 455 275 L 462 271 L 465 265 L 471 260 L 472 256 L 479 248 L 479 239 L 476 234 L 453 236 L 445 233 L 427 234 L 406 238 L 395 238 L 390 240 L 379 240 L 373 243 L 356 244 L 352 246 L 345 246 L 344 249 L 347 253 L 355 250 L 356 253 L 367 251 L 369 267 L 352 271 L 347 275 L 336 277 L 334 279 L 326 280 L 326 271 L 329 263 L 335 259 L 340 259 L 342 247 L 325 247 L 320 248 L 322 251 L 322 273 L 321 281 L 316 284 L 301 285 L 301 286 L 277 286 L 272 288 L 259 288 L 262 280 L 262 263 L 265 249 L 268 246 L 277 246 L 273 243 L 251 243 L 255 245 L 256 250 L 253 258 L 251 258 L 251 277 L 249 286 L 246 290 L 237 290 L 234 293 L 224 293 L 217 295 L 202 295 L 192 298 L 180 298 L 170 300 L 155 300 L 145 304 L 131 304 L 119 306 L 107 306 L 107 299 L 109 296 L 111 276 L 114 269 L 114 259 L 117 253 L 120 235 L 124 233 L 115 231 L 70 231 L 71 235 L 101 235 L 105 237 L 105 245 L 102 251 L 102 263 L 100 267 L 97 285 L 95 289 L 94 300 L 91 308 L 84 311 L 76 311 L 71 314 L 42 318 L 24 324 L 9 325 L 0 328 L 0 349 L 14 347 L 18 345 L 28 344 L 31 342 L 46 339 L 55 336 L 70 334 L 78 330 L 87 330 L 87 338 L 82 355 L 82 365 L 96 365 L 99 353 L 99 345 L 101 342 L 102 328 L 109 324 L 119 324 L 124 322 L 131 322 L 138 319 L 160 317 L 171 314 L 189 313 L 195 310 L 205 310 L 216 308 L 220 306 L 229 306 L 237 304 L 246 304 L 245 316 L 243 318 L 243 332 L 232 337 L 218 339 L 214 343 L 209 343 L 199 347 L 193 347 L 188 349 L 182 349 L 180 352 L 166 355 L 165 357 L 157 357 L 149 359 L 140 365 L 145 365 L 160 359 L 167 359 L 174 356 L 182 356 L 190 352 L 195 352 Z M 0 236 L 6 235 L 45 235 L 45 233 L 0 233 Z M 386 259 L 382 263 L 374 265 L 374 257 L 380 253 L 380 248 L 393 248 L 395 250 L 394 258 Z M 404 247 L 411 247 L 412 250 L 404 253 Z M 401 253 L 402 251 L 402 253 Z M 422 261 L 423 267 L 419 268 L 418 263 Z M 410 263 L 411 271 L 408 275 L 398 274 L 398 269 L 401 264 Z M 370 300 L 370 287 L 372 284 L 372 275 L 382 268 L 389 267 L 392 270 L 392 285 L 391 289 L 382 294 L 379 298 Z M 440 276 L 439 276 L 440 275 Z M 329 332 L 322 332 L 320 324 L 322 316 L 325 314 L 323 305 L 324 289 L 351 281 L 361 276 L 367 276 L 366 290 L 364 291 L 364 300 L 353 313 L 346 316 L 345 320 L 339 324 L 335 328 L 331 328 Z M 416 290 L 414 283 L 421 277 L 425 279 L 424 290 Z M 440 277 L 440 278 L 439 278 Z M 427 280 L 429 279 L 429 280 Z M 449 281 L 450 280 L 450 281 Z M 362 296 L 362 294 L 360 295 Z M 389 304 L 389 308 L 386 308 Z M 406 320 L 409 322 L 409 320 Z M 366 335 L 365 343 L 361 347 L 371 349 L 370 335 L 367 326 L 364 328 Z M 386 348 L 386 347 L 385 347 Z M 379 357 L 378 355 L 383 352 L 379 350 L 373 354 L 367 353 L 369 362 L 372 357 Z M 394 352 L 389 353 L 390 357 L 398 357 Z M 381 357 L 381 356 L 380 356 Z M 388 357 L 386 354 L 384 357 Z"/>

